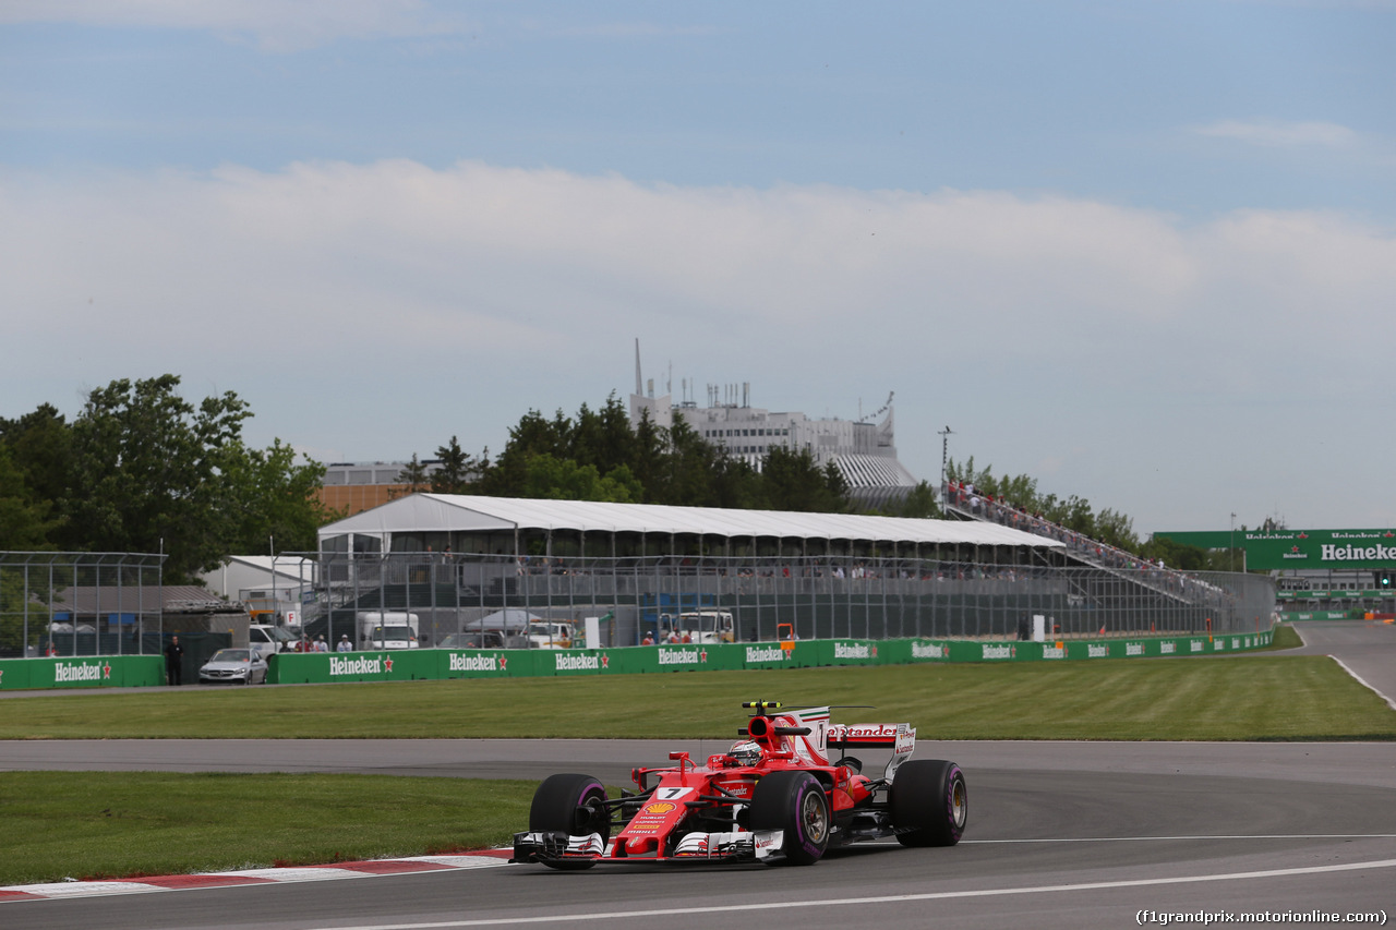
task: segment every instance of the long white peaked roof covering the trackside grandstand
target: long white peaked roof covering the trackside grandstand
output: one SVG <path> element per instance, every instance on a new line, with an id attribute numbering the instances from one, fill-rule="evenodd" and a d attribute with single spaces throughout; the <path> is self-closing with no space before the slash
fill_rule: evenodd
<path id="1" fill-rule="evenodd" d="M 607 504 L 586 500 L 526 500 L 469 494 L 410 494 L 320 528 L 320 538 L 364 533 L 385 538 L 419 532 L 512 532 L 568 529 L 582 532 L 701 533 L 704 536 L 778 536 L 785 539 L 868 539 L 902 543 L 1030 546 L 1062 543 L 998 524 L 958 519 L 912 519 L 856 514 L 805 514 L 775 510 Z"/>

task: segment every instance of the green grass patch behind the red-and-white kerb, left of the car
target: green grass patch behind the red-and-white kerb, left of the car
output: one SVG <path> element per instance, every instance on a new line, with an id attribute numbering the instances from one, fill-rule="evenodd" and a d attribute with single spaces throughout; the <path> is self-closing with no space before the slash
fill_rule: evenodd
<path id="1" fill-rule="evenodd" d="M 0 774 L 0 885 L 497 846 L 533 782 L 387 775 Z"/>

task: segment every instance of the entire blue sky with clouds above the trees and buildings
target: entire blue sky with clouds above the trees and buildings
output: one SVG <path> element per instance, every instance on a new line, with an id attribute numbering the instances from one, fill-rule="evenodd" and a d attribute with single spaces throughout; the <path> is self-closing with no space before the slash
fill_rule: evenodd
<path id="1" fill-rule="evenodd" d="M 1396 525 L 1396 3 L 0 6 L 0 415 L 321 461 L 646 376 L 1135 529 Z M 1330 493 L 1330 487 L 1347 493 Z"/>

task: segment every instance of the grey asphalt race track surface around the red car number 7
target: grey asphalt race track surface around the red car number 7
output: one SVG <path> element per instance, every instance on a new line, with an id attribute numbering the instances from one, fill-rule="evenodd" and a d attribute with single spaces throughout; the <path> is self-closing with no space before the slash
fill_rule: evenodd
<path id="1" fill-rule="evenodd" d="M 1396 697 L 1396 627 L 1304 624 Z M 1275 654 L 1270 654 L 1275 655 Z M 952 849 L 868 843 L 808 869 L 537 866 L 120 896 L 10 902 L 28 927 L 1122 927 L 1141 910 L 1252 912 L 1350 926 L 1396 919 L 1396 744 L 935 743 L 966 771 L 970 820 Z M 40 741 L 0 744 L 0 769 L 355 771 L 611 783 L 671 743 L 610 740 Z M 695 754 L 718 748 L 691 744 Z M 1328 919 L 1322 915 L 1337 915 Z M 1249 926 L 1268 926 L 1252 922 Z M 1143 926 L 1150 924 L 1145 915 Z"/>

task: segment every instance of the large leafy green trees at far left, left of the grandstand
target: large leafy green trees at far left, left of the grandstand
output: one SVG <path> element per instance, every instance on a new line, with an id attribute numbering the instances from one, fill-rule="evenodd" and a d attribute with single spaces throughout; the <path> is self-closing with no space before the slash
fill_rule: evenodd
<path id="1" fill-rule="evenodd" d="M 49 404 L 0 418 L 0 550 L 163 552 L 179 582 L 232 553 L 314 549 L 335 517 L 324 466 L 248 445 L 232 391 L 194 405 L 179 384 L 112 381 L 71 423 Z"/>

